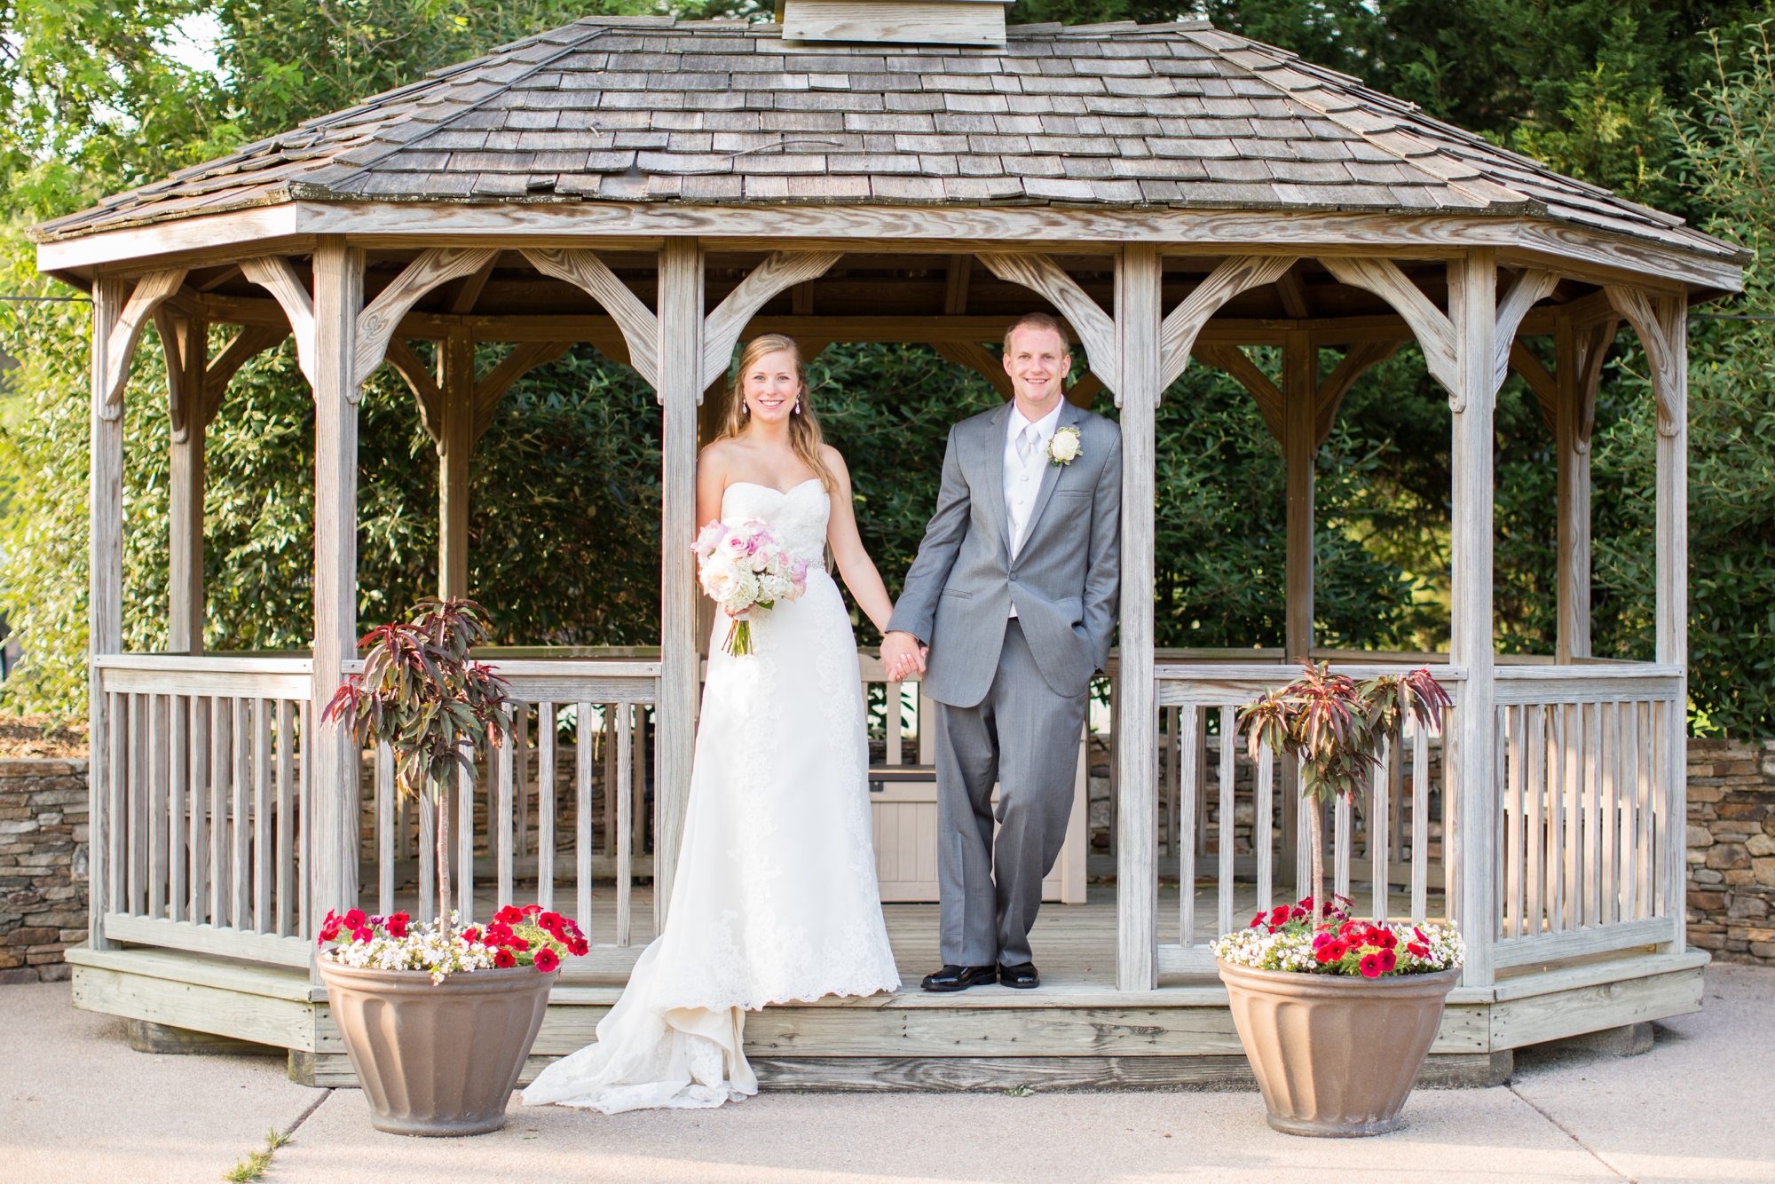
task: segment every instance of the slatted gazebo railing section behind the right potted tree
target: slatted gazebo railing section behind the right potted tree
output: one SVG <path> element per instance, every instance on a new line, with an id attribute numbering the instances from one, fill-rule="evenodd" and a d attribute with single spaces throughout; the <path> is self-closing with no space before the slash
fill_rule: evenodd
<path id="1" fill-rule="evenodd" d="M 1354 678 L 1367 678 L 1376 673 L 1383 673 L 1383 667 L 1367 666 L 1335 666 L 1340 673 L 1351 675 Z M 1388 667 L 1397 669 L 1397 667 Z M 1450 715 L 1459 710 L 1459 683 L 1466 678 L 1466 673 L 1459 667 L 1450 666 L 1431 666 L 1436 680 L 1456 698 L 1456 708 Z M 1276 834 L 1276 783 L 1278 767 L 1273 754 L 1264 749 L 1258 753 L 1257 769 L 1253 770 L 1253 785 L 1248 792 L 1239 792 L 1237 786 L 1237 758 L 1242 751 L 1239 730 L 1237 730 L 1237 708 L 1250 703 L 1262 691 L 1278 687 L 1292 676 L 1292 669 L 1285 666 L 1253 666 L 1253 664 L 1212 664 L 1212 666 L 1157 666 L 1154 671 L 1157 682 L 1157 701 L 1161 710 L 1173 710 L 1175 715 L 1170 717 L 1170 724 L 1175 726 L 1175 733 L 1168 731 L 1166 737 L 1173 737 L 1173 747 L 1170 749 L 1175 760 L 1177 772 L 1172 774 L 1179 793 L 1173 799 L 1173 827 L 1172 834 L 1177 836 L 1177 868 L 1179 868 L 1179 941 L 1164 943 L 1157 948 L 1157 966 L 1161 975 L 1179 975 L 1179 973 L 1212 973 L 1214 955 L 1209 943 L 1198 943 L 1198 918 L 1196 918 L 1196 879 L 1203 872 L 1198 866 L 1198 850 L 1203 850 L 1202 829 L 1207 825 L 1205 801 L 1212 795 L 1218 801 L 1218 825 L 1212 857 L 1212 880 L 1214 880 L 1214 925 L 1212 934 L 1228 934 L 1235 928 L 1244 927 L 1250 921 L 1250 914 L 1255 909 L 1273 909 L 1283 900 L 1276 895 L 1278 882 L 1278 849 L 1292 847 L 1298 852 L 1294 875 L 1290 877 L 1296 886 L 1305 886 L 1308 882 L 1308 852 L 1312 850 L 1310 836 L 1310 815 L 1306 809 L 1289 809 L 1287 813 L 1296 818 L 1296 834 L 1292 843 L 1283 843 L 1282 836 Z M 1209 735 L 1209 719 L 1216 719 L 1219 724 L 1219 733 L 1216 737 Z M 1447 722 L 1447 721 L 1445 721 Z M 1448 728 L 1445 726 L 1447 733 Z M 1207 754 L 1214 751 L 1214 769 L 1209 770 L 1211 776 L 1203 777 L 1202 772 L 1207 765 Z M 1397 753 L 1397 754 L 1395 754 Z M 1440 756 L 1440 753 L 1438 753 Z M 1431 889 L 1443 889 L 1441 898 L 1447 902 L 1447 888 L 1452 884 L 1452 852 L 1454 852 L 1454 834 L 1452 834 L 1452 795 L 1448 793 L 1448 772 L 1447 763 L 1440 758 L 1432 758 L 1431 737 L 1424 731 L 1408 730 L 1400 738 L 1397 738 L 1390 751 L 1384 754 L 1386 776 L 1376 777 L 1374 793 L 1367 809 L 1367 852 L 1365 861 L 1372 866 L 1369 868 L 1369 880 L 1372 888 L 1372 900 L 1369 912 L 1374 916 L 1388 914 L 1388 889 L 1397 879 L 1400 870 L 1406 872 L 1404 880 L 1411 893 L 1409 918 L 1415 921 L 1429 920 L 1434 916 L 1431 912 Z M 1441 834 L 1440 857 L 1432 866 L 1431 863 L 1431 795 L 1438 793 L 1441 799 L 1441 818 L 1447 827 Z M 1399 795 L 1395 802 L 1393 793 Z M 1255 856 L 1255 893 L 1244 907 L 1239 905 L 1239 872 L 1241 863 L 1244 863 L 1235 849 L 1237 833 L 1237 813 L 1241 799 L 1251 804 L 1251 854 Z M 1395 808 L 1397 806 L 1397 808 Z M 1326 818 L 1324 838 L 1328 841 L 1328 864 L 1326 864 L 1326 888 L 1340 895 L 1349 895 L 1353 872 L 1360 879 L 1360 870 L 1356 868 L 1356 841 L 1354 841 L 1354 818 L 1347 802 L 1340 802 L 1329 811 Z M 1395 843 L 1395 834 L 1392 827 L 1402 825 L 1409 827 L 1409 845 Z M 1404 836 L 1399 836 L 1404 838 Z M 1409 849 L 1409 863 L 1402 868 L 1399 864 L 1399 856 Z M 1376 888 L 1377 886 L 1377 888 Z M 1306 895 L 1306 888 L 1301 888 L 1299 895 Z M 1397 918 L 1395 918 L 1397 920 Z"/>

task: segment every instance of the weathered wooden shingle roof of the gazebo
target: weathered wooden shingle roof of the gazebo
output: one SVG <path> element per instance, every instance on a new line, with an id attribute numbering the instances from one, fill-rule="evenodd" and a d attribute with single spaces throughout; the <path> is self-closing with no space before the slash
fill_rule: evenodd
<path id="1" fill-rule="evenodd" d="M 1447 209 L 1740 257 L 1205 21 L 1024 25 L 1003 48 L 958 48 L 586 18 L 32 236 L 327 199 Z"/>

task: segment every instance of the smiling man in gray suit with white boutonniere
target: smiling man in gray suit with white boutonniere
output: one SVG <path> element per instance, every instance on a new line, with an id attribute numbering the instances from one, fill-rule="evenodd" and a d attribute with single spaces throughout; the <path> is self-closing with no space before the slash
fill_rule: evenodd
<path id="1" fill-rule="evenodd" d="M 1040 983 L 1030 927 L 1120 582 L 1122 433 L 1065 401 L 1070 367 L 1054 318 L 1005 334 L 1015 401 L 950 430 L 937 513 L 882 637 L 888 676 L 925 671 L 937 705 L 943 969 L 925 991 Z"/>

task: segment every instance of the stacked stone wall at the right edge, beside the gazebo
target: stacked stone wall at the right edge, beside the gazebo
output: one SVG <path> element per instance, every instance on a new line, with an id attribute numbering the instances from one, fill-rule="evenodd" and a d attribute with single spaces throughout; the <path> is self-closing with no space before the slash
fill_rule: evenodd
<path id="1" fill-rule="evenodd" d="M 1688 742 L 1688 941 L 1775 966 L 1775 740 Z"/>

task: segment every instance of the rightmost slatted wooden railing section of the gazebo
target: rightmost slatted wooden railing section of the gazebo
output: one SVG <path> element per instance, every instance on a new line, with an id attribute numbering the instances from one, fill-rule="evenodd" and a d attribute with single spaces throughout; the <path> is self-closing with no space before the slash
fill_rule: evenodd
<path id="1" fill-rule="evenodd" d="M 1681 939 L 1683 671 L 1500 666 L 1493 964 Z"/>

